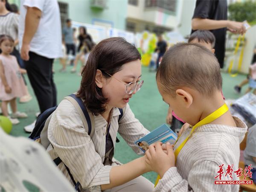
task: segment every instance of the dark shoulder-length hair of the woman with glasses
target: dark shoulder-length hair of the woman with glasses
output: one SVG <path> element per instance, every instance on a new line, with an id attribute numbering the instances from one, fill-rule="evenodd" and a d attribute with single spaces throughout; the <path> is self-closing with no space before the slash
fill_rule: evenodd
<path id="1" fill-rule="evenodd" d="M 141 59 L 140 53 L 124 38 L 108 38 L 93 47 L 82 71 L 81 86 L 78 91 L 78 96 L 84 99 L 84 105 L 88 110 L 95 115 L 104 113 L 108 102 L 108 98 L 103 96 L 101 88 L 95 83 L 96 71 L 101 70 L 102 75 L 107 79 L 110 78 L 108 74 L 115 74 L 124 64 L 137 59 Z"/>

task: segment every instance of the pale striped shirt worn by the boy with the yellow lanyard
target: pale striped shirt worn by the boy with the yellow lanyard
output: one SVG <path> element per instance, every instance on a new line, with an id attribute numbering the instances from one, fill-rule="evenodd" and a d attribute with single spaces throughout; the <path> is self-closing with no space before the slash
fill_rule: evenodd
<path id="1" fill-rule="evenodd" d="M 232 180 L 227 174 L 227 166 L 238 170 L 239 143 L 244 138 L 247 126 L 241 119 L 234 117 L 237 127 L 227 125 L 202 125 L 181 149 L 176 167 L 170 168 L 159 180 L 154 192 L 238 192 L 239 185 L 215 185 L 214 180 L 222 164 L 224 174 L 221 180 Z M 174 150 L 189 135 L 188 128 L 177 141 Z M 239 180 L 236 173 L 232 173 L 233 180 Z M 219 177 L 216 178 L 219 180 Z"/>

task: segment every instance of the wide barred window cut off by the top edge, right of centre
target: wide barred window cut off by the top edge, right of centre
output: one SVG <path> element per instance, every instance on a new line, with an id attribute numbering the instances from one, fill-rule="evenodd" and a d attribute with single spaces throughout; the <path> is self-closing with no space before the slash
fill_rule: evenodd
<path id="1" fill-rule="evenodd" d="M 159 7 L 171 12 L 176 12 L 176 0 L 145 0 L 145 7 Z"/>

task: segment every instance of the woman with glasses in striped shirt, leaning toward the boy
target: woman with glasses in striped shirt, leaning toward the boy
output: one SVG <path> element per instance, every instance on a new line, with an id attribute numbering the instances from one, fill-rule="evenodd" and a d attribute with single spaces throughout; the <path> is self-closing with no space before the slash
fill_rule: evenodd
<path id="1" fill-rule="evenodd" d="M 153 191 L 154 185 L 140 175 L 150 171 L 144 157 L 122 165 L 113 158 L 117 132 L 135 153 L 135 144 L 149 133 L 134 117 L 128 102 L 143 85 L 140 53 L 123 38 L 108 38 L 90 52 L 82 71 L 77 96 L 93 114 L 95 132 L 90 138 L 76 108 L 63 100 L 48 126 L 47 149 L 52 159 L 60 157 L 58 167 L 70 179 L 69 168 L 81 191 Z M 121 119 L 119 108 L 122 108 Z"/>

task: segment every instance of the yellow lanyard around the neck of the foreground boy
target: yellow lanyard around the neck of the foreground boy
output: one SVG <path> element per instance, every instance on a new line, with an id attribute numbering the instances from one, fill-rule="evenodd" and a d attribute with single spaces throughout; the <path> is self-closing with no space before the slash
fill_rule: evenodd
<path id="1" fill-rule="evenodd" d="M 209 114 L 207 117 L 205 117 L 204 119 L 202 119 L 201 121 L 199 121 L 197 124 L 195 124 L 192 128 L 192 130 L 190 131 L 190 134 L 188 137 L 186 137 L 186 139 L 180 144 L 180 146 L 178 146 L 178 148 L 174 151 L 174 154 L 175 154 L 175 162 L 176 162 L 176 159 L 178 157 L 178 154 L 180 153 L 180 150 L 183 148 L 183 146 L 186 144 L 187 140 L 189 139 L 189 137 L 191 137 L 192 133 L 195 131 L 195 129 L 199 126 L 202 126 L 202 125 L 206 125 L 212 121 L 214 121 L 215 119 L 218 119 L 221 115 L 223 115 L 224 113 L 226 113 L 228 111 L 228 107 L 226 104 L 222 105 L 220 108 L 218 108 L 216 111 L 214 111 L 213 113 Z M 178 137 L 179 139 L 179 137 Z M 178 140 L 177 139 L 177 140 Z M 177 143 L 177 140 L 176 140 L 176 143 Z M 176 144 L 175 143 L 175 144 Z M 157 175 L 157 180 L 156 180 L 156 183 L 155 183 L 155 186 L 157 185 L 158 181 L 160 179 L 160 176 Z"/>

